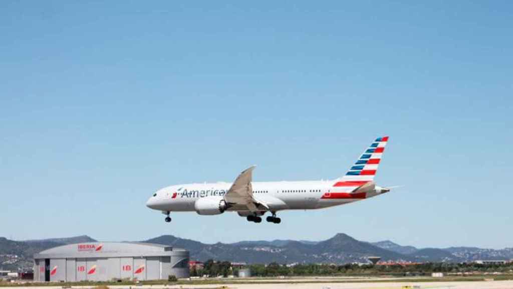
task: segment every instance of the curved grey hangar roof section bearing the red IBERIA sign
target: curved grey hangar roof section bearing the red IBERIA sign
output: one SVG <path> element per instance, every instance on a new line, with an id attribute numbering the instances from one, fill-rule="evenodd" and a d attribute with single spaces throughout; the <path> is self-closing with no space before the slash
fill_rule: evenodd
<path id="1" fill-rule="evenodd" d="M 186 255 L 184 249 L 171 246 L 135 242 L 95 242 L 58 246 L 34 254 L 34 259 L 54 258 L 108 258 L 159 257 Z"/>

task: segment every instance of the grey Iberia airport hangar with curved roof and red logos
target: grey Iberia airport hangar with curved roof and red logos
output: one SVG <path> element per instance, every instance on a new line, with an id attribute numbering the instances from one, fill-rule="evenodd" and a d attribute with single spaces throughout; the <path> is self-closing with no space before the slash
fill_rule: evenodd
<path id="1" fill-rule="evenodd" d="M 70 244 L 34 254 L 34 281 L 75 282 L 189 277 L 189 251 L 171 246 L 105 242 Z"/>

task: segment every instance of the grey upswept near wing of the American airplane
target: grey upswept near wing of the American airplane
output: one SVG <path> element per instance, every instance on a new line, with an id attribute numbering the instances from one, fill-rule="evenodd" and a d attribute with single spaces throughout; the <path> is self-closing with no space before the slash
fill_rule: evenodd
<path id="1" fill-rule="evenodd" d="M 252 212 L 259 211 L 258 205 L 268 208 L 267 205 L 259 202 L 253 197 L 251 180 L 254 168 L 255 166 L 251 166 L 242 171 L 242 173 L 235 179 L 235 182 L 231 185 L 231 188 L 225 194 L 224 200 L 229 206 L 243 205 Z"/>

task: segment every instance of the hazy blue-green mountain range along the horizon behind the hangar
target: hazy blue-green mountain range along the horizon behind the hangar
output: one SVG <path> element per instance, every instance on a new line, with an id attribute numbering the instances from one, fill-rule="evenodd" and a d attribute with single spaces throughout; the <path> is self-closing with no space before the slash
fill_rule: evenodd
<path id="1" fill-rule="evenodd" d="M 34 253 L 55 246 L 96 242 L 89 236 L 13 241 L 0 237 L 0 267 L 31 268 Z M 383 261 L 471 262 L 475 260 L 513 259 L 513 248 L 483 249 L 477 247 L 416 248 L 391 241 L 364 242 L 338 233 L 324 241 L 241 241 L 224 244 L 202 242 L 164 235 L 144 242 L 171 245 L 190 251 L 191 260 L 226 260 L 245 263 L 334 263 L 367 262 L 369 256 Z"/>

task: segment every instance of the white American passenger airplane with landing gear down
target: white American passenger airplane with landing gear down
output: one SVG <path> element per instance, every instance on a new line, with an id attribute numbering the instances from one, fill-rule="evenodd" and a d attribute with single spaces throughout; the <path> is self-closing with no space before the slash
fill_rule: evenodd
<path id="1" fill-rule="evenodd" d="M 349 171 L 334 180 L 299 182 L 253 182 L 255 166 L 244 170 L 233 183 L 182 184 L 157 190 L 146 206 L 166 214 L 196 212 L 217 215 L 235 211 L 247 221 L 279 224 L 278 211 L 322 209 L 365 200 L 390 191 L 374 183 L 388 136 L 378 137 Z"/>

